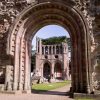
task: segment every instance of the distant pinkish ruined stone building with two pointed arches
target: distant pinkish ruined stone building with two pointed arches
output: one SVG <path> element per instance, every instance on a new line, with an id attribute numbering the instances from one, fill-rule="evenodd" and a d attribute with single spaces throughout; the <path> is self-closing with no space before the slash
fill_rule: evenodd
<path id="1" fill-rule="evenodd" d="M 60 43 L 47 41 L 47 39 L 36 39 L 36 70 L 45 79 L 69 79 L 67 43 L 63 42 L 63 39 Z"/>

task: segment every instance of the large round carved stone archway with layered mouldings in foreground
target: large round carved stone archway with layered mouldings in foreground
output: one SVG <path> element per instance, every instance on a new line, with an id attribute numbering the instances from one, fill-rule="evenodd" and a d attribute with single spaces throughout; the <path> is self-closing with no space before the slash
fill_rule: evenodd
<path id="1" fill-rule="evenodd" d="M 45 25 L 57 24 L 68 30 L 72 42 L 72 91 L 87 93 L 89 78 L 88 25 L 82 13 L 71 3 L 44 2 L 31 5 L 20 13 L 9 31 L 5 87 L 12 91 L 30 91 L 31 42 L 35 33 Z M 9 76 L 9 77 L 8 77 Z"/>

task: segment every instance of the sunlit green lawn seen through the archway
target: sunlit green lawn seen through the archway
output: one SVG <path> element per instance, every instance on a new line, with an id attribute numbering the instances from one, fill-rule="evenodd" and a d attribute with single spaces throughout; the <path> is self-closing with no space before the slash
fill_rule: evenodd
<path id="1" fill-rule="evenodd" d="M 56 83 L 35 84 L 35 85 L 32 85 L 32 90 L 48 91 L 48 90 L 63 87 L 70 83 L 71 83 L 70 81 L 63 81 L 63 82 L 56 82 Z"/>

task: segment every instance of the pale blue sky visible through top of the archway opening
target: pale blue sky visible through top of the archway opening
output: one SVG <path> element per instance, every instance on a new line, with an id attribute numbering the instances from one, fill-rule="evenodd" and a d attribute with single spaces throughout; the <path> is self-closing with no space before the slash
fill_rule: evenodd
<path id="1" fill-rule="evenodd" d="M 33 50 L 36 49 L 36 37 L 46 39 L 49 37 L 54 37 L 54 36 L 66 36 L 70 37 L 69 33 L 67 30 L 65 30 L 63 27 L 58 26 L 58 25 L 48 25 L 43 28 L 41 28 L 34 36 L 32 40 L 32 45 L 33 45 Z"/>

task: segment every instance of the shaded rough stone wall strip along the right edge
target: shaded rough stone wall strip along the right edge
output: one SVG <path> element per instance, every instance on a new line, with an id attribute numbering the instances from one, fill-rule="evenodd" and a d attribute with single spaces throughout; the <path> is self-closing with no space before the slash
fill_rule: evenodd
<path id="1" fill-rule="evenodd" d="M 100 0 L 91 0 L 91 16 L 93 20 L 92 83 L 94 91 L 100 90 Z"/>

